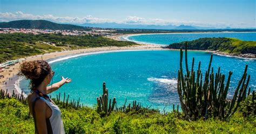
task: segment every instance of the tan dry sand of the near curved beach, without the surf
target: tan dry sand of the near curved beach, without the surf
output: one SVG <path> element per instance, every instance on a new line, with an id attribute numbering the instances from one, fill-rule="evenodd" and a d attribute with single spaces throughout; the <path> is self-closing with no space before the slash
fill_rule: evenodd
<path id="1" fill-rule="evenodd" d="M 96 48 L 87 48 L 81 50 L 72 50 L 72 51 L 62 51 L 62 52 L 53 52 L 53 53 L 46 53 L 46 54 L 39 54 L 34 55 L 31 57 L 21 58 L 18 59 L 19 63 L 15 64 L 14 66 L 10 66 L 9 69 L 5 69 L 1 75 L 4 75 L 4 78 L 0 79 L 0 89 L 6 90 L 8 89 L 8 93 L 11 95 L 14 91 L 15 94 L 21 95 L 21 91 L 17 89 L 17 80 L 18 80 L 18 72 L 19 72 L 19 65 L 23 61 L 32 61 L 32 60 L 49 60 L 49 59 L 56 59 L 59 57 L 64 57 L 66 55 L 74 55 L 74 54 L 81 54 L 81 53 L 91 53 L 91 52 L 102 52 L 102 51 L 124 51 L 124 50 L 163 50 L 161 46 L 157 45 L 137 45 L 137 46 L 126 46 L 126 47 L 96 47 Z M 16 84 L 15 84 L 16 83 Z M 16 87 L 16 88 L 15 88 Z"/>

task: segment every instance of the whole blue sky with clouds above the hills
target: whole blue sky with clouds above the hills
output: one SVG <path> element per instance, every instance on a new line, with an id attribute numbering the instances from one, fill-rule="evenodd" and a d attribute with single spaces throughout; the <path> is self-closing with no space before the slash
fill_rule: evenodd
<path id="1" fill-rule="evenodd" d="M 0 0 L 0 20 L 256 27 L 255 0 Z"/>

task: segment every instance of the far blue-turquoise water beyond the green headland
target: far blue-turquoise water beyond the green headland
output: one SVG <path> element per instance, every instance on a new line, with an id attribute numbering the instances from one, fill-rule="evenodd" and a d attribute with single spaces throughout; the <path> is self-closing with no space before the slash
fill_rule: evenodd
<path id="1" fill-rule="evenodd" d="M 205 37 L 229 37 L 238 38 L 240 40 L 256 41 L 256 32 L 142 34 L 124 37 L 124 40 L 128 39 L 149 44 L 169 45 Z"/>

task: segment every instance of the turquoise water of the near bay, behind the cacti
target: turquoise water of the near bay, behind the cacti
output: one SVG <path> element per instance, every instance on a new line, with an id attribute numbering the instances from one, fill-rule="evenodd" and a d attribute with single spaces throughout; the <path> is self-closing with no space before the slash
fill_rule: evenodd
<path id="1" fill-rule="evenodd" d="M 255 38 L 255 37 L 254 37 Z M 189 64 L 195 58 L 195 68 L 201 61 L 203 72 L 207 69 L 211 53 L 188 52 Z M 232 71 L 231 88 L 228 95 L 233 95 L 234 88 L 248 65 L 251 74 L 250 86 L 256 88 L 256 60 L 248 60 L 220 55 L 213 56 L 214 71 L 221 67 L 221 73 Z M 53 82 L 60 76 L 71 77 L 72 82 L 65 84 L 51 96 L 59 92 L 70 95 L 84 105 L 92 107 L 97 103 L 96 98 L 102 94 L 102 83 L 106 82 L 110 97 L 117 98 L 117 105 L 141 102 L 144 106 L 159 110 L 172 109 L 172 104 L 179 104 L 177 94 L 177 73 L 179 69 L 179 51 L 127 51 L 83 55 L 51 63 L 56 72 Z M 20 87 L 26 93 L 28 81 L 21 80 Z M 63 95 L 63 94 L 62 94 Z M 63 96 L 62 96 L 63 97 Z"/>

